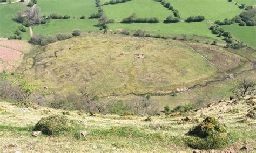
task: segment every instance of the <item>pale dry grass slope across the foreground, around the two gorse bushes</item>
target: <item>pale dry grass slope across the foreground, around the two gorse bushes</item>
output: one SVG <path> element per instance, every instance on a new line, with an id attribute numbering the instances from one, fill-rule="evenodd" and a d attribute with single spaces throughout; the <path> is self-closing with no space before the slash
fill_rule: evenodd
<path id="1" fill-rule="evenodd" d="M 234 142 L 224 150 L 215 151 L 235 152 L 242 148 L 245 143 L 256 147 L 254 132 L 256 120 L 249 118 L 242 122 L 251 106 L 246 105 L 245 100 L 237 103 L 232 102 L 222 101 L 211 107 L 187 114 L 192 119 L 199 121 L 202 121 L 206 116 L 213 115 L 225 124 Z M 230 113 L 233 109 L 237 109 L 238 113 Z M 18 108 L 10 103 L 0 102 L 0 151 L 194 151 L 186 147 L 184 141 L 188 129 L 198 123 L 181 121 L 185 116 L 152 117 L 152 122 L 145 122 L 143 120 L 146 117 L 120 117 L 100 114 L 92 117 L 85 112 L 70 112 L 67 117 L 79 122 L 83 130 L 87 131 L 86 138 L 77 140 L 72 134 L 60 136 L 41 134 L 38 137 L 31 135 L 32 127 L 41 117 L 62 114 L 62 111 L 45 107 L 38 107 L 37 109 Z"/>

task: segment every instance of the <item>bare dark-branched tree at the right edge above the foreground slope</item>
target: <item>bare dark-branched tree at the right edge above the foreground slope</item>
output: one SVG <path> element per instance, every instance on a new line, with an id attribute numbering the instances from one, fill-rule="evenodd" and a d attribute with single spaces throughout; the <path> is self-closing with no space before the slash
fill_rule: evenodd
<path id="1" fill-rule="evenodd" d="M 240 84 L 232 89 L 232 92 L 237 96 L 255 94 L 255 82 L 252 80 L 244 79 Z"/>

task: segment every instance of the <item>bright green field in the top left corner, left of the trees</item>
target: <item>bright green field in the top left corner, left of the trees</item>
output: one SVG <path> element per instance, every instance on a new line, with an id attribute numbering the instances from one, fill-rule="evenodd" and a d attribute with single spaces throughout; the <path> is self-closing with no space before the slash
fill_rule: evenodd
<path id="1" fill-rule="evenodd" d="M 0 37 L 9 37 L 14 34 L 20 24 L 12 20 L 16 12 L 25 9 L 26 5 L 22 3 L 0 5 Z"/>

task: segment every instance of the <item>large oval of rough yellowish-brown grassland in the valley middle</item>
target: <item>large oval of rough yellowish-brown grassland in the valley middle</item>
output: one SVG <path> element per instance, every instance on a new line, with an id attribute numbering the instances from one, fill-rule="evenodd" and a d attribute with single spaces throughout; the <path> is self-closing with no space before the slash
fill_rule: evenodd
<path id="1" fill-rule="evenodd" d="M 226 58 L 217 62 L 227 67 L 220 67 L 221 71 L 233 69 L 244 60 L 235 54 L 222 54 Z M 179 41 L 115 34 L 86 34 L 35 48 L 24 61 L 27 63 L 18 72 L 24 71 L 25 78 L 37 84 L 57 93 L 77 92 L 86 84 L 99 96 L 170 93 L 226 75 Z"/>

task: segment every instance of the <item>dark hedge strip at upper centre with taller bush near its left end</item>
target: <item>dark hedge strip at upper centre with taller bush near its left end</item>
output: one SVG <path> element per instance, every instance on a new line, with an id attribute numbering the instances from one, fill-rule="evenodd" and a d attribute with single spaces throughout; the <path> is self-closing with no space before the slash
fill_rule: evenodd
<path id="1" fill-rule="evenodd" d="M 138 18 L 136 13 L 132 13 L 130 17 L 122 19 L 121 23 L 159 23 L 159 19 L 156 17 Z"/>

